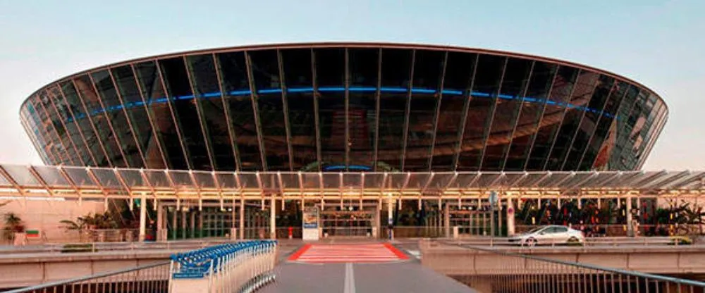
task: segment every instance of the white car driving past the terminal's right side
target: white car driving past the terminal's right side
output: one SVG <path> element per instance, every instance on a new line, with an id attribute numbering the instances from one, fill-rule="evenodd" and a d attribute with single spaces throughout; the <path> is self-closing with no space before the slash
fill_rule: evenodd
<path id="1" fill-rule="evenodd" d="M 520 245 L 584 244 L 585 236 L 579 230 L 566 226 L 548 225 L 510 237 L 509 242 Z"/>

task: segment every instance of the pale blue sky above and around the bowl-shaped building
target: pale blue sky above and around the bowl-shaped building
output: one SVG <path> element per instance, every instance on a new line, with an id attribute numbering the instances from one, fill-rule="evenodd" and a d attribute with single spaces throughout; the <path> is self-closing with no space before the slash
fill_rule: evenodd
<path id="1" fill-rule="evenodd" d="M 705 1 L 0 0 L 0 162 L 42 164 L 20 104 L 49 82 L 130 58 L 282 42 L 405 42 L 559 58 L 666 100 L 646 170 L 705 170 Z"/>

